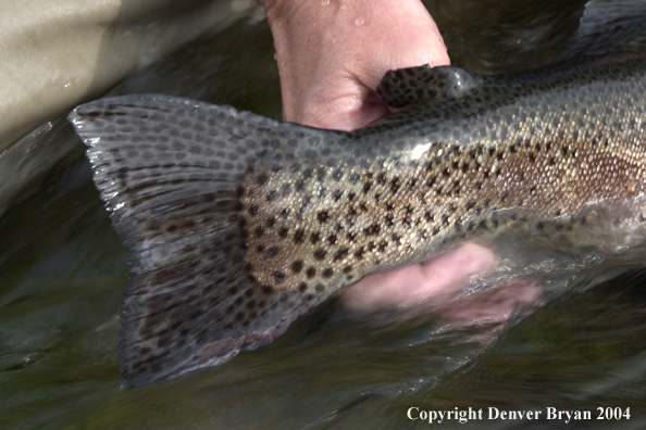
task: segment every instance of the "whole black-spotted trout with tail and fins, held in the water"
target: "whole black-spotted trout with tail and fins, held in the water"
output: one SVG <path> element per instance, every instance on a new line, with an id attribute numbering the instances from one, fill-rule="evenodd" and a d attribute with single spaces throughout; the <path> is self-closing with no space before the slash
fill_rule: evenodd
<path id="1" fill-rule="evenodd" d="M 363 276 L 464 241 L 644 242 L 644 9 L 591 1 L 594 25 L 534 71 L 390 71 L 377 91 L 409 108 L 355 131 L 160 94 L 77 106 L 69 119 L 132 252 L 126 385 L 224 363 Z"/>

